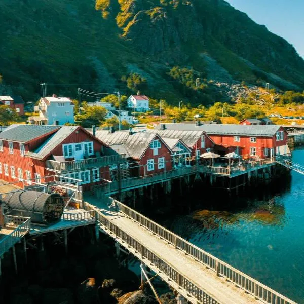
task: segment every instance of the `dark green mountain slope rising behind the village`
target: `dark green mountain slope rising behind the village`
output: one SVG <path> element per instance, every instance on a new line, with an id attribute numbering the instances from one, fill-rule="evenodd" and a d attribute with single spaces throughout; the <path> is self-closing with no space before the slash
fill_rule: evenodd
<path id="1" fill-rule="evenodd" d="M 73 98 L 78 87 L 140 89 L 169 103 L 221 100 L 212 81 L 304 88 L 304 60 L 293 46 L 223 0 L 2 0 L 0 6 L 0 74 L 28 101 L 40 96 L 42 82 L 48 93 Z"/>

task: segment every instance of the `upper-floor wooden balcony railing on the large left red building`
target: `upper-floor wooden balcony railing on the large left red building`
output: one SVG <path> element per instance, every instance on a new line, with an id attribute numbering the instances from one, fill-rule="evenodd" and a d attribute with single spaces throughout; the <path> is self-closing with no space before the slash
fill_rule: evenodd
<path id="1" fill-rule="evenodd" d="M 66 162 L 47 160 L 46 169 L 49 171 L 54 171 L 56 173 L 68 173 L 118 164 L 125 160 L 125 154 L 109 155 Z"/>

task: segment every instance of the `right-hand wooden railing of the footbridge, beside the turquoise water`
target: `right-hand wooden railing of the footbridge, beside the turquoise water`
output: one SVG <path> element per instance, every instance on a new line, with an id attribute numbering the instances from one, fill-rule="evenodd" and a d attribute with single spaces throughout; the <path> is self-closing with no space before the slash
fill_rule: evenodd
<path id="1" fill-rule="evenodd" d="M 158 237 L 166 240 L 168 243 L 175 246 L 176 249 L 183 251 L 187 255 L 193 257 L 196 261 L 201 262 L 207 268 L 216 272 L 218 276 L 224 277 L 227 281 L 234 283 L 236 286 L 245 290 L 247 293 L 258 298 L 263 303 L 296 304 L 295 302 L 291 301 L 290 299 L 281 295 L 270 287 L 258 282 L 250 276 L 247 276 L 246 274 L 242 273 L 231 265 L 221 261 L 215 256 L 204 251 L 203 249 L 184 240 L 180 236 L 167 230 L 165 227 L 150 220 L 149 218 L 143 216 L 142 214 L 136 212 L 135 210 L 122 204 L 121 202 L 116 201 L 116 205 L 119 210 L 125 215 L 127 215 L 129 218 L 136 221 L 141 226 L 145 227 L 147 230 L 151 231 Z"/>

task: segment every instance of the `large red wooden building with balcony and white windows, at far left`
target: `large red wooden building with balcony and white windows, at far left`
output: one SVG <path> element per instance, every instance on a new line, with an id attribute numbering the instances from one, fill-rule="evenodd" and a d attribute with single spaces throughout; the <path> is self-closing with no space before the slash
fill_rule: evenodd
<path id="1" fill-rule="evenodd" d="M 0 178 L 31 184 L 57 174 L 100 184 L 110 178 L 109 164 L 121 159 L 108 154 L 113 151 L 80 126 L 12 125 L 0 133 Z"/>

